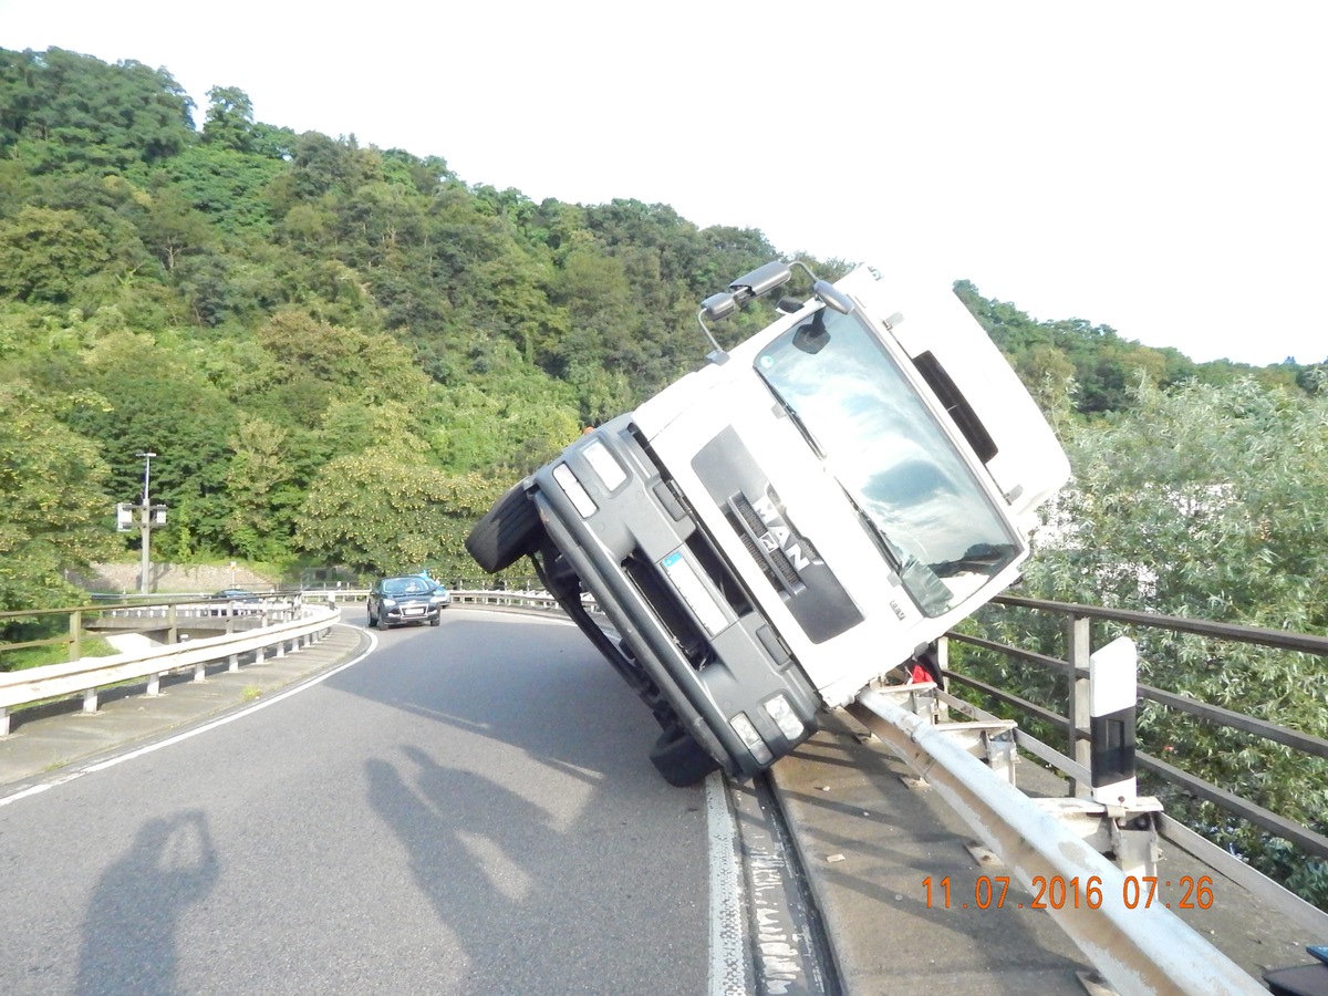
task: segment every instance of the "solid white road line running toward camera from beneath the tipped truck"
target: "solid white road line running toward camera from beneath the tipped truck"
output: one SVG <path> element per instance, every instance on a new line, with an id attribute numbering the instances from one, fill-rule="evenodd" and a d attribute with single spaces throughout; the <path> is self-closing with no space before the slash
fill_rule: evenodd
<path id="1" fill-rule="evenodd" d="M 710 987 L 709 996 L 748 992 L 742 943 L 742 895 L 737 833 L 722 772 L 705 778 L 705 829 L 710 858 Z"/>

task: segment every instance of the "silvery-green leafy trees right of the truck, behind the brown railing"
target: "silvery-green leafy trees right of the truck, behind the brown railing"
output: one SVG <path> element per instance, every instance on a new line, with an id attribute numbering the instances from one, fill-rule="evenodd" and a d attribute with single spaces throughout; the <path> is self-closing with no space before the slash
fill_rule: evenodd
<path id="1" fill-rule="evenodd" d="M 1252 378 L 1170 392 L 1145 382 L 1129 409 L 1064 429 L 1074 478 L 1056 509 L 1060 529 L 1029 563 L 1021 594 L 1292 632 L 1328 628 L 1328 398 Z M 976 631 L 1064 657 L 1053 620 L 1009 611 L 983 619 Z M 1104 629 L 1096 645 L 1117 635 Z M 1162 631 L 1130 635 L 1145 684 L 1328 737 L 1321 659 Z M 1064 684 L 1031 665 L 961 657 L 967 672 L 1033 701 L 1065 701 Z M 1138 736 L 1141 749 L 1328 833 L 1328 762 L 1153 704 Z M 1270 874 L 1286 879 L 1293 870 L 1262 831 L 1153 789 L 1173 815 Z M 1328 903 L 1328 891 L 1315 900 Z"/>

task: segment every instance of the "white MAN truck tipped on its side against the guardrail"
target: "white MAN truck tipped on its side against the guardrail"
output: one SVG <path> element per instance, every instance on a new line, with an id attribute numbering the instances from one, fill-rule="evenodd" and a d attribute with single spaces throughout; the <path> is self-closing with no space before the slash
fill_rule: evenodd
<path id="1" fill-rule="evenodd" d="M 811 296 L 722 352 L 705 323 L 798 270 Z M 756 774 L 819 710 L 926 659 L 1017 578 L 1036 509 L 1069 477 L 948 290 L 912 299 L 867 267 L 829 283 L 774 262 L 699 321 L 703 369 L 587 432 L 466 540 L 489 572 L 531 558 L 663 726 L 651 760 L 675 785 Z"/>

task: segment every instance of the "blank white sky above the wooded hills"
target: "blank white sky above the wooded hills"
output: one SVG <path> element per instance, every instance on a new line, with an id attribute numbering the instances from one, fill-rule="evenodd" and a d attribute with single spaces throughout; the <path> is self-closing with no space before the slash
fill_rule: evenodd
<path id="1" fill-rule="evenodd" d="M 1195 360 L 1328 357 L 1328 5 L 0 0 L 535 201 L 671 205 Z M 736 276 L 736 275 L 734 275 Z"/>

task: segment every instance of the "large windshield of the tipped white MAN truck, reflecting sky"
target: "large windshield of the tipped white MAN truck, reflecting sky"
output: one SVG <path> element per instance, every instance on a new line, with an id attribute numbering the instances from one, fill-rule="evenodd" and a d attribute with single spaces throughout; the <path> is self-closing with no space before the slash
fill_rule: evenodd
<path id="1" fill-rule="evenodd" d="M 977 591 L 1019 552 L 955 442 L 857 315 L 822 308 L 756 372 L 863 518 L 927 616 Z"/>

